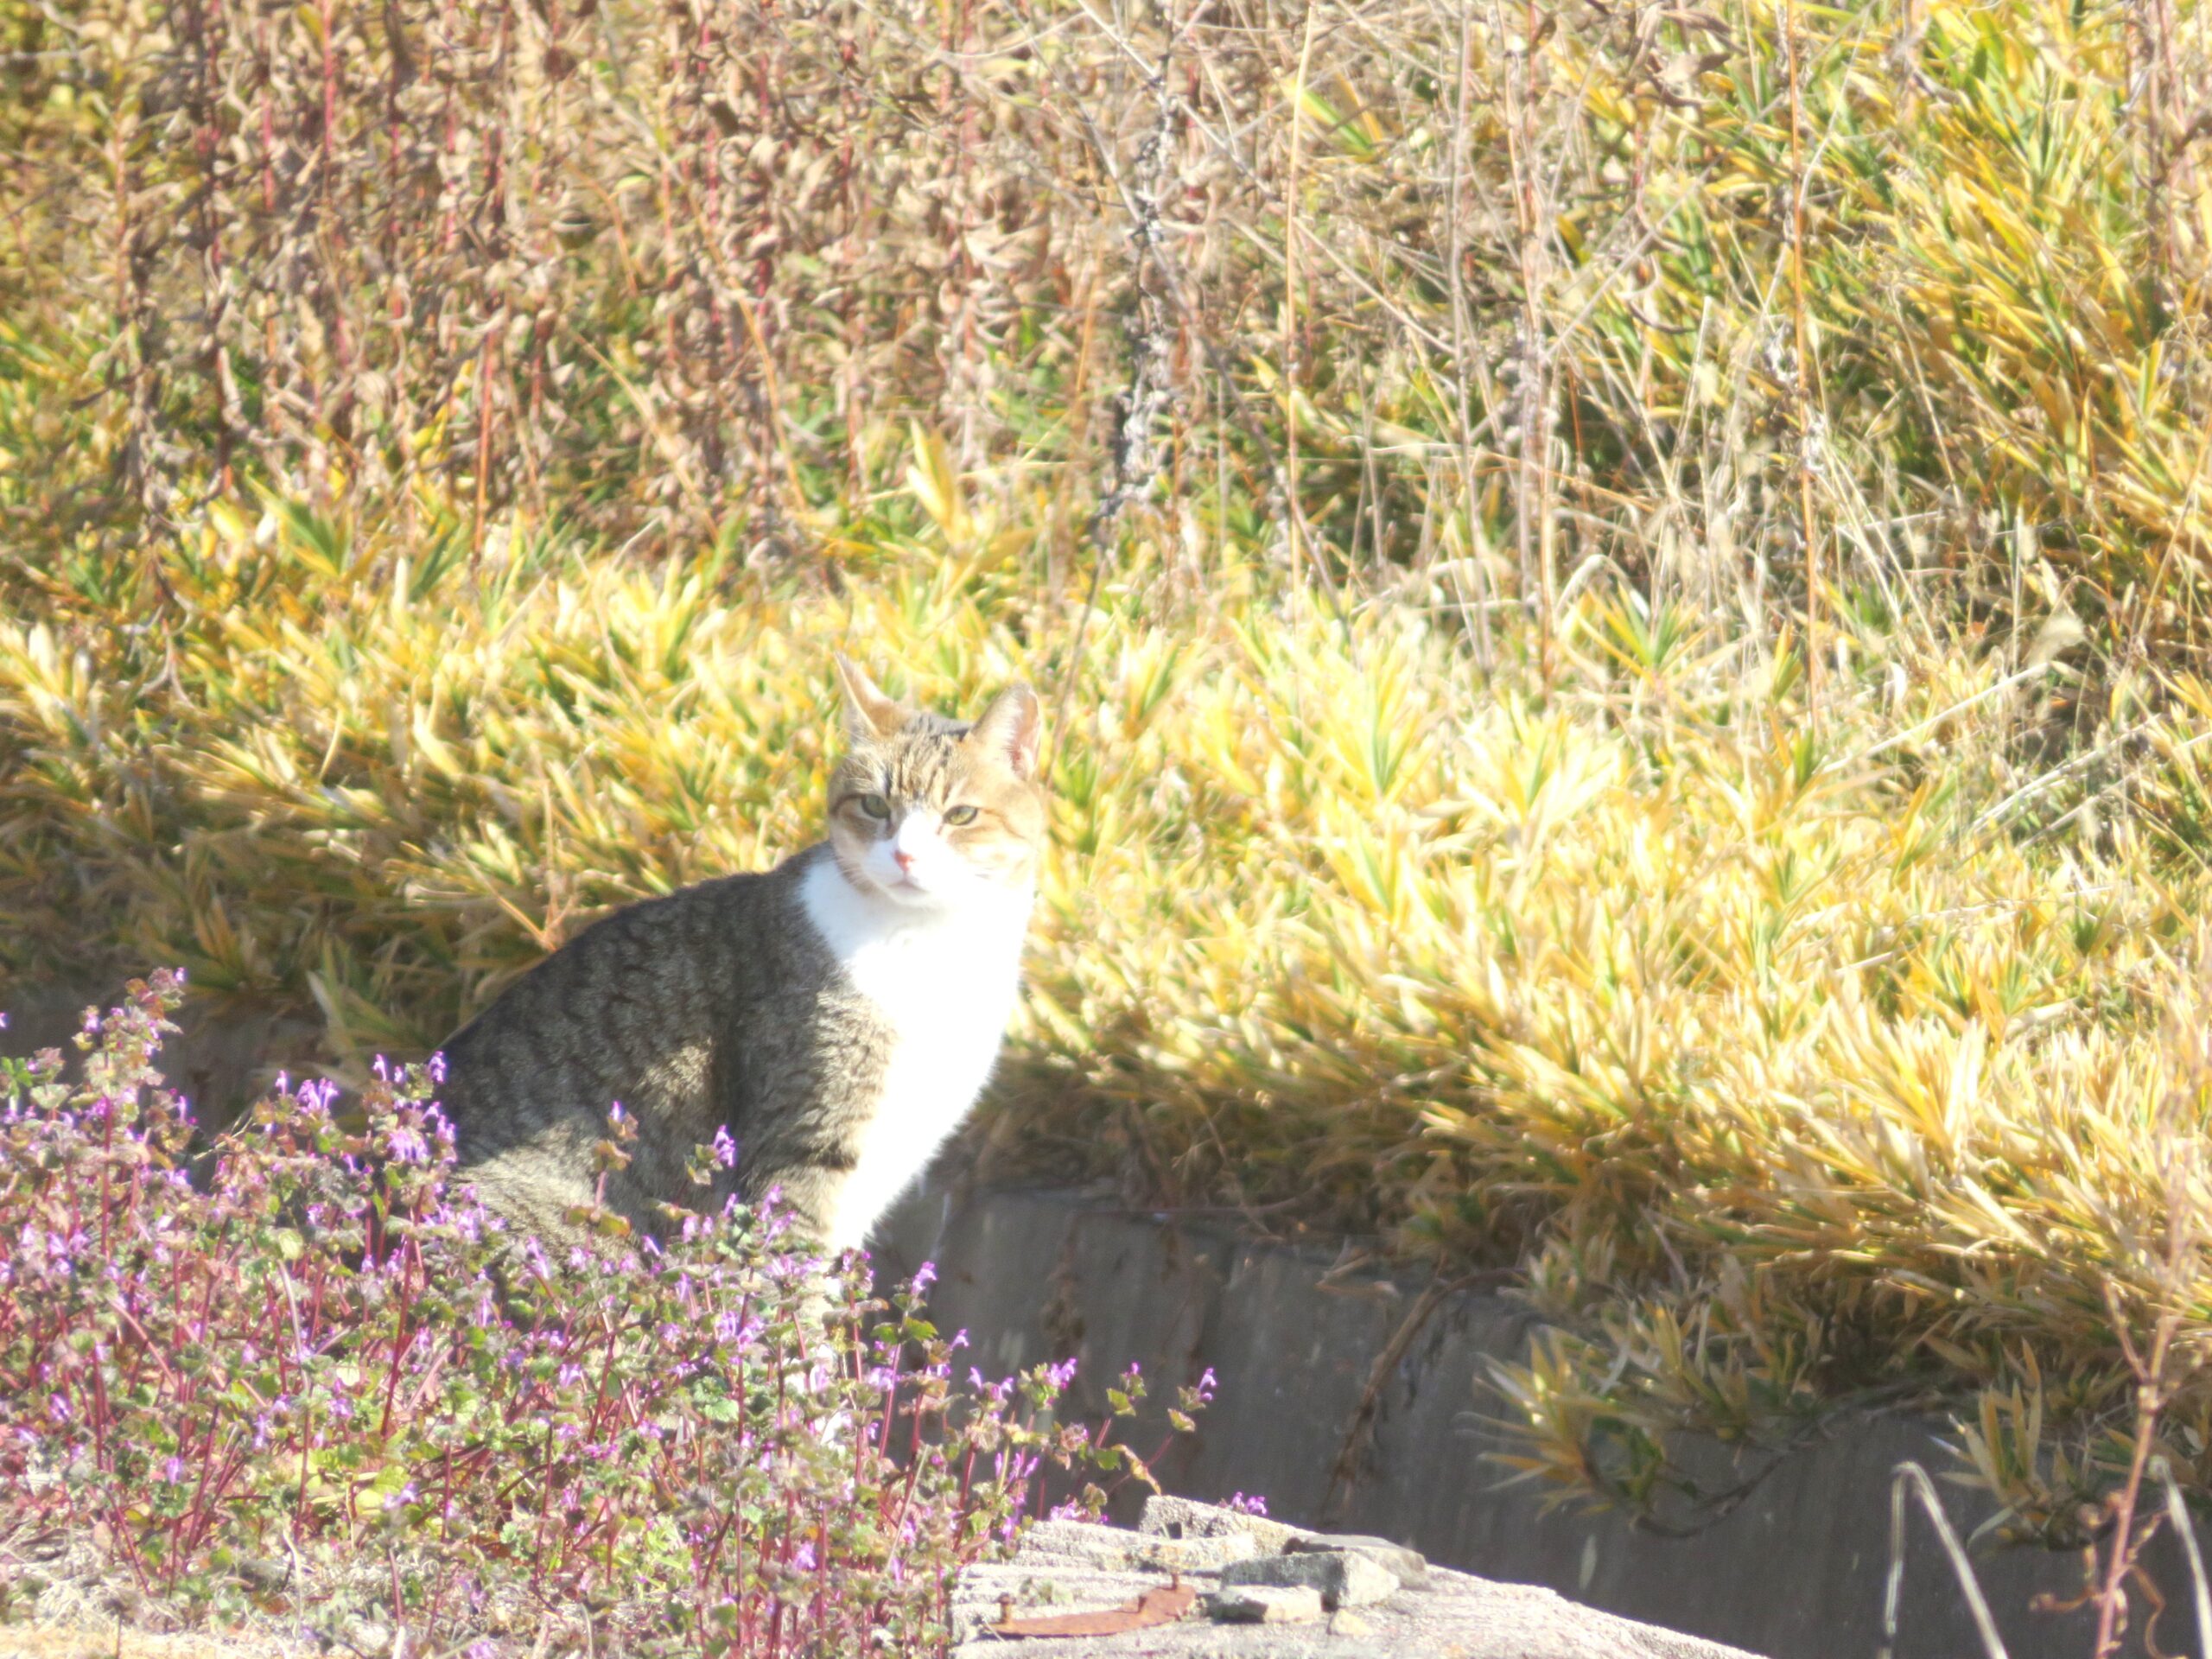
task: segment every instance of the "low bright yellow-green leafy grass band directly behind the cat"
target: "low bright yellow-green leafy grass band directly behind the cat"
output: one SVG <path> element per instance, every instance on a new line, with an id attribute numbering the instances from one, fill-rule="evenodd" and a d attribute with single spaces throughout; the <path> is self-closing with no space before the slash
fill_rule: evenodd
<path id="1" fill-rule="evenodd" d="M 843 593 L 560 546 L 409 586 L 217 509 L 144 611 L 0 626 L 0 938 L 422 1053 L 599 907 L 803 845 L 834 648 L 947 708 L 1057 684 L 1077 602 L 945 524 L 856 542 Z M 1816 743 L 1787 648 L 1677 613 L 1582 602 L 1544 695 L 1420 606 L 1157 575 L 1104 584 L 1051 739 L 998 1157 L 1526 1259 L 1568 1332 L 1509 1378 L 1531 1458 L 1635 1502 L 1606 1447 L 1672 1425 L 2126 1405 L 2104 1287 L 2174 1305 L 2168 1166 L 2212 1108 L 2161 1026 L 2212 894 L 2128 805 L 2197 787 L 2185 699 L 2084 792 L 2004 759 L 2051 679 L 1989 655 L 1856 641 Z M 2194 1338 L 2194 1237 L 2179 1283 Z"/>

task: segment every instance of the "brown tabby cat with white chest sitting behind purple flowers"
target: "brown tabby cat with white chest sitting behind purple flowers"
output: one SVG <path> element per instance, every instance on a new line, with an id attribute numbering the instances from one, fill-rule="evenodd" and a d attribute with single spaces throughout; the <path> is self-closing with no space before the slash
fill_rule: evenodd
<path id="1" fill-rule="evenodd" d="M 1020 993 L 1044 852 L 1037 697 L 973 721 L 885 697 L 845 657 L 830 834 L 595 922 L 442 1048 L 458 1177 L 571 1239 L 597 1201 L 608 1110 L 635 1124 L 604 1208 L 759 1203 L 856 1248 L 975 1102 Z M 721 1141 L 710 1192 L 690 1175 Z M 734 1161 L 732 1161 L 734 1148 Z"/>

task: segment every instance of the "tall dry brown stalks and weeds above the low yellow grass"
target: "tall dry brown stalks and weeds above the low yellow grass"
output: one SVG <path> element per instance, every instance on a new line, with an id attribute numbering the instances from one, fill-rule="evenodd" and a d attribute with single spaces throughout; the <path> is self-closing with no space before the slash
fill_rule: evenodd
<path id="1" fill-rule="evenodd" d="M 1807 11 L 1796 117 L 1750 2 L 0 15 L 31 544 L 263 482 L 416 568 L 509 520 L 807 564 L 920 418 L 1053 482 L 1055 582 L 1104 476 L 1192 566 L 1442 568 L 1478 641 L 1593 560 L 1763 628 L 1807 509 L 1834 597 L 2026 566 L 2197 633 L 2188 7 Z"/>

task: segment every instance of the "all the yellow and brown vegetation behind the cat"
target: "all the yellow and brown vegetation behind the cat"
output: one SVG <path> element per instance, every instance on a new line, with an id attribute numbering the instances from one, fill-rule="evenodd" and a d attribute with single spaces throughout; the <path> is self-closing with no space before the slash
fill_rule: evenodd
<path id="1" fill-rule="evenodd" d="M 2212 1484 L 2199 9 L 7 18 L 13 975 L 365 1084 L 1024 670 L 991 1157 L 1517 1265 L 1681 1524 L 1878 1398 L 2073 1542 L 2161 1327 Z"/>

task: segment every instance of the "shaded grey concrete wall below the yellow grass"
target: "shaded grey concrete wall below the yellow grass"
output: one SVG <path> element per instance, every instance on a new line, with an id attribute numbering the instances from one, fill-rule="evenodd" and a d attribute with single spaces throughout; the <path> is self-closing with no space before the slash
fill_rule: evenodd
<path id="1" fill-rule="evenodd" d="M 1345 1425 L 1374 1356 L 1405 1318 L 1407 1287 L 1367 1279 L 1349 1292 L 1323 1290 L 1327 1254 L 1254 1245 L 1066 1192 L 927 1190 L 887 1221 L 876 1259 L 887 1276 L 936 1261 L 931 1318 L 969 1332 L 984 1374 L 1079 1356 L 1086 1411 L 1104 1407 L 1104 1385 L 1130 1360 L 1144 1365 L 1155 1402 L 1212 1367 L 1219 1402 L 1157 1464 L 1172 1491 L 1217 1502 L 1261 1493 L 1283 1520 L 1383 1533 L 1469 1573 L 1544 1584 L 1772 1659 L 1871 1659 L 1889 1559 L 1889 1473 L 1905 1458 L 1938 1480 L 1958 1467 L 1940 1425 L 1860 1416 L 1781 1462 L 1734 1513 L 1688 1540 L 1610 1515 L 1546 1511 L 1544 1491 L 1502 1484 L 1509 1471 L 1484 1458 L 1504 1440 L 1482 1420 L 1493 1396 L 1478 1389 L 1489 1360 L 1526 1358 L 1533 1323 L 1504 1296 L 1469 1292 L 1438 1307 L 1391 1374 L 1371 1449 L 1349 1493 L 1323 1515 Z M 1130 1436 L 1139 1451 L 1157 1438 Z M 1717 1444 L 1705 1453 L 1728 1460 Z M 1947 1504 L 1962 1537 L 1991 1509 L 1986 1495 L 1960 1489 Z M 1898 1659 L 1980 1652 L 1918 1515 L 1909 1540 Z M 2179 1564 L 2154 1551 L 2150 1571 L 2172 1597 L 2159 1646 L 2185 1652 L 2192 1624 Z M 2028 1608 L 2037 1593 L 2079 1593 L 2077 1555 L 2008 1551 L 1980 1559 L 1978 1575 L 2015 1659 L 2088 1659 L 2086 1613 Z M 2139 1632 L 2128 1652 L 2143 1652 Z"/>

